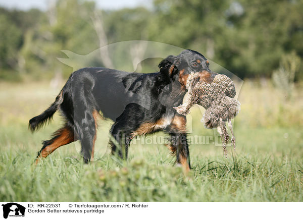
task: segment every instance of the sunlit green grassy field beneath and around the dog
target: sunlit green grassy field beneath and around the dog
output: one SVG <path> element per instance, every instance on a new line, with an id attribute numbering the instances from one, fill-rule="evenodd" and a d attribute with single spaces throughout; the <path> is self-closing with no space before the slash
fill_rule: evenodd
<path id="1" fill-rule="evenodd" d="M 136 140 L 121 162 L 107 149 L 111 122 L 101 120 L 95 161 L 85 165 L 79 143 L 63 146 L 33 166 L 41 140 L 60 126 L 31 134 L 28 120 L 55 100 L 48 83 L 0 83 L 0 201 L 303 201 L 303 100 L 297 86 L 290 101 L 270 82 L 244 81 L 234 122 L 235 152 L 228 158 L 213 144 L 213 130 L 188 116 L 192 170 L 187 176 L 156 136 Z M 164 134 L 159 133 L 157 137 Z"/>

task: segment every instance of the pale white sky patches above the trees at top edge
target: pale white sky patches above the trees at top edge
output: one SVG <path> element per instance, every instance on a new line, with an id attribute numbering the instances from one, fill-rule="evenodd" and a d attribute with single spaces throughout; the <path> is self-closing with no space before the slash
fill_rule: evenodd
<path id="1" fill-rule="evenodd" d="M 49 1 L 54 0 L 0 0 L 0 6 L 9 9 L 29 10 L 31 8 L 38 8 L 46 10 Z M 121 8 L 134 8 L 137 6 L 149 7 L 151 0 L 94 0 L 97 7 L 106 10 L 116 10 Z"/>

